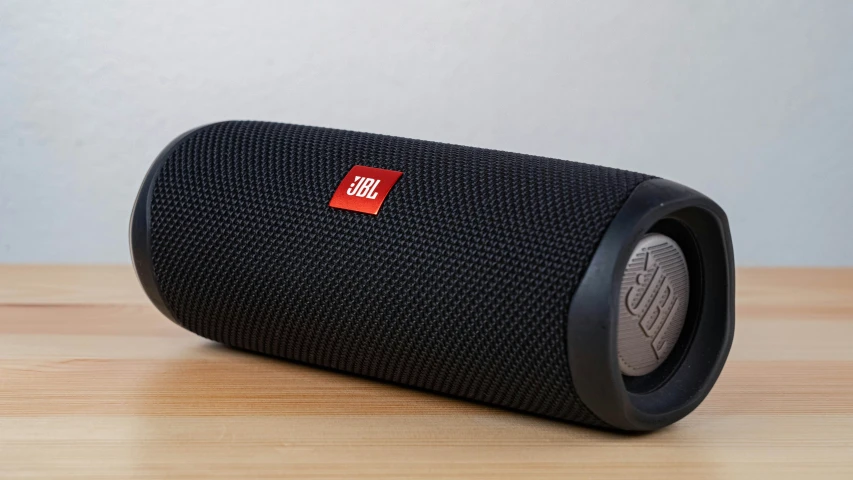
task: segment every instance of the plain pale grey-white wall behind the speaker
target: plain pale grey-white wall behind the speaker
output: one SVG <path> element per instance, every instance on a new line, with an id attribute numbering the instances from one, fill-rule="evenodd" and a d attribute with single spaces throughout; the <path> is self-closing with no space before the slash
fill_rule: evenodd
<path id="1" fill-rule="evenodd" d="M 739 265 L 853 265 L 846 0 L 0 0 L 0 262 L 128 263 L 151 161 L 225 119 L 652 173 Z"/>

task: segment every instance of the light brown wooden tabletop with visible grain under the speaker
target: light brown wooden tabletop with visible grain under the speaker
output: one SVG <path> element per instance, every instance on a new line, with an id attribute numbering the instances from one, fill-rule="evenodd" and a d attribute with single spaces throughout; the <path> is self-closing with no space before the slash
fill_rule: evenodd
<path id="1" fill-rule="evenodd" d="M 705 403 L 624 436 L 220 347 L 129 267 L 0 266 L 0 478 L 853 479 L 853 270 L 737 298 Z"/>

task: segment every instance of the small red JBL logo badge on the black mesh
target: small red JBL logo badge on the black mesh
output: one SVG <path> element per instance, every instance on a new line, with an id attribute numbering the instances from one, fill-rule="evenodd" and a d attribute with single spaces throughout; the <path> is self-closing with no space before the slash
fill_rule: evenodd
<path id="1" fill-rule="evenodd" d="M 376 215 L 403 172 L 356 165 L 341 180 L 330 207 Z"/>

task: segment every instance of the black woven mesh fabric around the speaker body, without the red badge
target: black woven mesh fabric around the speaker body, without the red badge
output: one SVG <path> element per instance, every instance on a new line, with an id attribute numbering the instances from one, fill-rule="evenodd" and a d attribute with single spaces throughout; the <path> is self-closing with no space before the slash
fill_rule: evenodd
<path id="1" fill-rule="evenodd" d="M 353 165 L 402 171 L 379 215 L 328 206 Z M 651 177 L 403 138 L 225 122 L 154 180 L 151 262 L 187 329 L 234 347 L 558 419 L 572 295 Z"/>

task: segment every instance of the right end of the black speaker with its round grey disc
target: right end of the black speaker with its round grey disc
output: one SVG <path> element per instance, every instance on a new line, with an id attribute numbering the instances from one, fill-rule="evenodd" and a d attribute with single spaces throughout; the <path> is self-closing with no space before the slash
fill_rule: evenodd
<path id="1" fill-rule="evenodd" d="M 648 289 L 657 294 L 653 299 L 645 298 L 643 285 L 630 294 L 627 290 L 633 284 L 628 282 L 626 287 L 625 283 L 626 271 L 633 265 L 630 262 L 651 245 L 649 238 L 656 239 L 655 245 L 665 246 L 670 241 L 678 245 L 678 255 L 668 251 L 666 261 L 683 262 L 683 268 L 658 272 L 655 285 Z M 654 265 L 643 267 L 649 265 L 638 267 L 643 273 L 655 273 Z M 683 282 L 678 275 L 688 276 L 687 288 L 677 288 Z M 640 283 L 645 280 L 652 279 Z M 663 292 L 665 284 L 672 296 Z M 686 302 L 686 309 L 672 312 L 683 318 L 679 319 L 680 330 L 671 332 L 678 335 L 668 336 L 663 322 L 644 313 L 662 315 L 667 305 L 674 310 L 669 301 L 676 296 Z M 622 303 L 632 298 L 636 311 L 620 322 L 626 310 Z M 643 302 L 648 302 L 648 312 L 643 310 Z M 658 305 L 651 302 L 658 302 L 661 309 L 655 310 Z M 651 338 L 626 340 L 626 326 L 637 327 L 627 331 L 629 337 L 645 333 Z M 648 331 L 640 332 L 644 326 Z M 655 332 L 663 332 L 663 336 L 659 339 Z M 606 230 L 569 309 L 569 367 L 578 397 L 614 428 L 650 431 L 665 427 L 693 411 L 708 395 L 723 369 L 733 336 L 734 259 L 725 213 L 708 197 L 683 185 L 663 179 L 643 182 Z M 673 342 L 668 351 L 661 349 L 660 357 L 652 358 L 648 347 L 666 339 Z M 626 348 L 637 346 L 640 350 L 632 357 L 634 365 L 626 367 L 621 356 Z"/>

